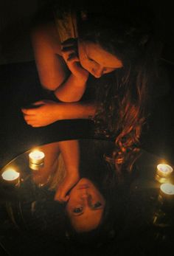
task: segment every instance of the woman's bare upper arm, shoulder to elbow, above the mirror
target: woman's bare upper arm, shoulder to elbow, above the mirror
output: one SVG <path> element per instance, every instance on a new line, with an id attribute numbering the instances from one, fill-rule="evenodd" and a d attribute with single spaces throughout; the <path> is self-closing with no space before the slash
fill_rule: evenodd
<path id="1" fill-rule="evenodd" d="M 55 27 L 52 24 L 44 24 L 32 30 L 32 46 L 42 86 L 55 91 L 66 78 Z"/>

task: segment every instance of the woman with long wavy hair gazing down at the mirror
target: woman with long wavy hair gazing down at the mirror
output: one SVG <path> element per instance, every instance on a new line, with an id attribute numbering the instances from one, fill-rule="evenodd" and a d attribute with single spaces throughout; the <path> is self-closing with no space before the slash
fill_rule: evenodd
<path id="1" fill-rule="evenodd" d="M 98 8 L 71 15 L 69 10 L 60 12 L 55 19 L 59 27 L 46 24 L 33 32 L 41 83 L 58 100 L 41 100 L 33 104 L 37 108 L 22 111 L 32 127 L 63 119 L 93 119 L 97 134 L 115 140 L 111 159 L 116 169 L 130 170 L 139 151 L 148 86 L 154 76 L 152 19 L 145 7 L 134 4 L 126 10 L 103 3 Z M 68 39 L 61 34 L 64 18 L 70 26 Z M 93 97 L 83 101 L 91 77 Z"/>

